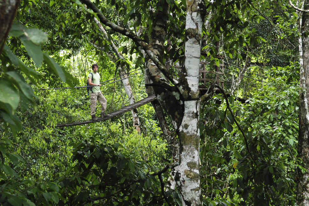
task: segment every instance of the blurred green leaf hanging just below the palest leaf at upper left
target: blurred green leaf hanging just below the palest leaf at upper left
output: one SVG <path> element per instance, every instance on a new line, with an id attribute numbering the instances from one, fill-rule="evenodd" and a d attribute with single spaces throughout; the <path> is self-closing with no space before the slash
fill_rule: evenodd
<path id="1" fill-rule="evenodd" d="M 43 52 L 41 47 L 34 44 L 32 41 L 29 41 L 27 37 L 21 37 L 20 40 L 23 42 L 23 45 L 27 49 L 28 55 L 33 59 L 36 66 L 41 67 L 43 62 Z"/>

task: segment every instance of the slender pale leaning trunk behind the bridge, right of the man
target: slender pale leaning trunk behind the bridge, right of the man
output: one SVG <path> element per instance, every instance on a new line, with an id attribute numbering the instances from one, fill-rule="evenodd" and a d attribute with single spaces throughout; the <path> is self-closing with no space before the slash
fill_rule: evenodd
<path id="1" fill-rule="evenodd" d="M 108 35 L 107 32 L 105 31 L 104 27 L 99 23 L 99 21 L 94 18 L 95 23 L 99 26 L 99 29 L 103 32 L 103 35 L 105 37 L 105 39 L 107 41 L 110 41 L 110 46 L 112 47 L 112 50 L 116 53 L 117 57 L 119 59 L 125 59 L 119 52 L 118 52 L 118 48 L 116 47 L 116 45 L 114 44 L 114 42 L 112 40 L 108 39 Z M 122 83 L 123 86 L 125 88 L 125 93 L 127 94 L 128 98 L 129 98 L 129 103 L 130 104 L 134 104 L 135 103 L 135 99 L 134 99 L 134 95 L 131 89 L 131 85 L 129 83 L 129 78 L 127 75 L 127 72 L 122 68 L 122 67 L 118 67 L 119 70 L 119 75 L 120 78 L 122 79 Z M 132 119 L 133 119 L 133 127 L 136 131 L 141 132 L 141 128 L 140 128 L 140 122 L 139 122 L 139 118 L 138 118 L 138 112 L 136 109 L 131 111 L 132 113 Z"/>

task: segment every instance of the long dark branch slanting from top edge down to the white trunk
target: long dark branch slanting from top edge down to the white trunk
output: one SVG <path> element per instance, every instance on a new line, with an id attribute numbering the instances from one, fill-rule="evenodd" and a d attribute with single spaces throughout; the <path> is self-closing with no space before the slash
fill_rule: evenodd
<path id="1" fill-rule="evenodd" d="M 146 52 L 146 54 L 149 56 L 149 58 L 155 63 L 155 65 L 158 67 L 158 69 L 169 79 L 173 84 L 177 84 L 178 81 L 174 79 L 173 75 L 171 75 L 164 67 L 164 65 L 159 61 L 159 59 L 156 57 L 156 55 L 148 48 L 148 46 L 145 44 L 145 42 L 140 39 L 136 34 L 134 34 L 131 30 L 125 29 L 121 26 L 117 26 L 110 20 L 108 20 L 102 12 L 98 9 L 98 7 L 95 6 L 93 2 L 90 0 L 81 0 L 84 4 L 86 4 L 91 10 L 93 10 L 95 13 L 97 13 L 97 16 L 101 23 L 104 25 L 110 27 L 116 32 L 119 32 L 120 34 L 123 34 L 129 38 L 131 38 L 138 46 L 141 46 L 143 50 Z"/>

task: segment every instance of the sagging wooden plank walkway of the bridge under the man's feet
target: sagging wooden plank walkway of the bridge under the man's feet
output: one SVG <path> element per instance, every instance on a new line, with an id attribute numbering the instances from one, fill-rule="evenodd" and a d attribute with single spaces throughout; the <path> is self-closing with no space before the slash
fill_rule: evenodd
<path id="1" fill-rule="evenodd" d="M 99 118 L 98 120 L 88 120 L 88 121 L 84 121 L 84 122 L 74 122 L 74 123 L 68 123 L 68 124 L 57 124 L 55 127 L 70 127 L 70 126 L 75 126 L 75 125 L 82 125 L 82 124 L 90 124 L 90 123 L 95 123 L 95 122 L 101 122 L 103 120 L 106 119 L 110 119 L 112 117 L 116 117 L 118 115 L 121 115 L 125 112 L 131 111 L 137 107 L 140 107 L 144 104 L 147 104 L 153 100 L 157 99 L 157 97 L 155 95 L 150 95 L 148 97 L 146 97 L 145 99 L 142 99 L 134 104 L 130 104 L 128 106 L 122 107 L 119 110 L 113 111 L 112 113 L 109 114 L 108 117 L 104 117 L 104 118 Z M 53 126 L 49 126 L 49 127 L 53 127 Z"/>

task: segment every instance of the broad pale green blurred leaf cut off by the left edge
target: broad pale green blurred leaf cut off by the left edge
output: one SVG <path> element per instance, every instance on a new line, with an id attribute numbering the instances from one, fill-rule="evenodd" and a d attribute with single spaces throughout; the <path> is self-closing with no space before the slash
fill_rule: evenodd
<path id="1" fill-rule="evenodd" d="M 13 110 L 18 107 L 19 93 L 6 79 L 0 79 L 0 102 L 9 104 Z"/>

